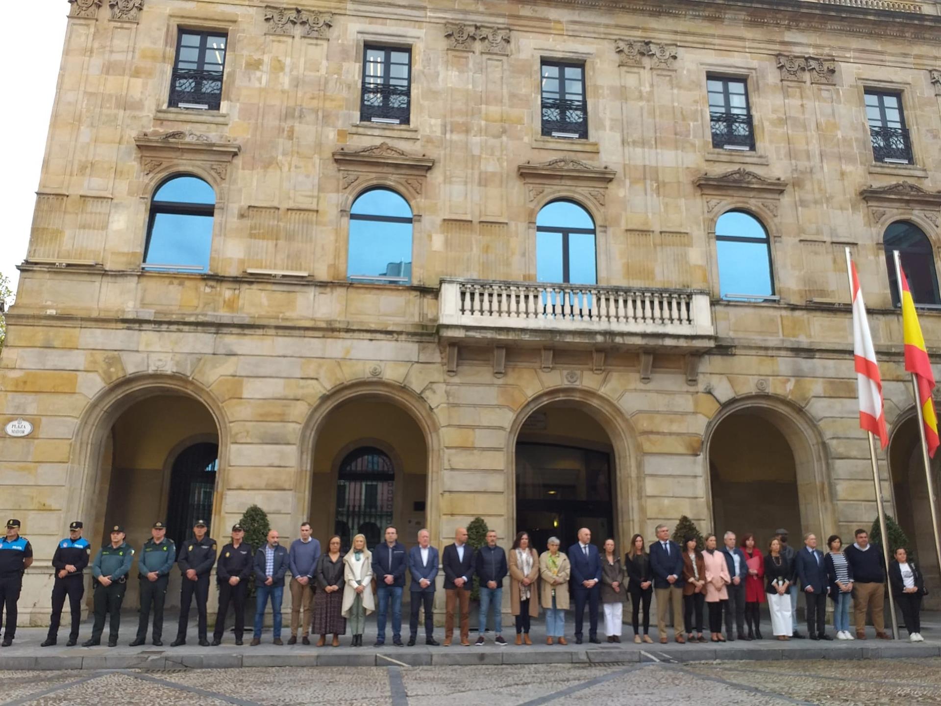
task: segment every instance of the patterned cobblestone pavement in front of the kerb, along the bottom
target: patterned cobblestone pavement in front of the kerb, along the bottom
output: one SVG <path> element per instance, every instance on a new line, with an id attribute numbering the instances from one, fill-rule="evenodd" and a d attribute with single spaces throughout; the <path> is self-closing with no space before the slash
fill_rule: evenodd
<path id="1" fill-rule="evenodd" d="M 0 672 L 0 704 L 941 704 L 941 659 Z"/>

